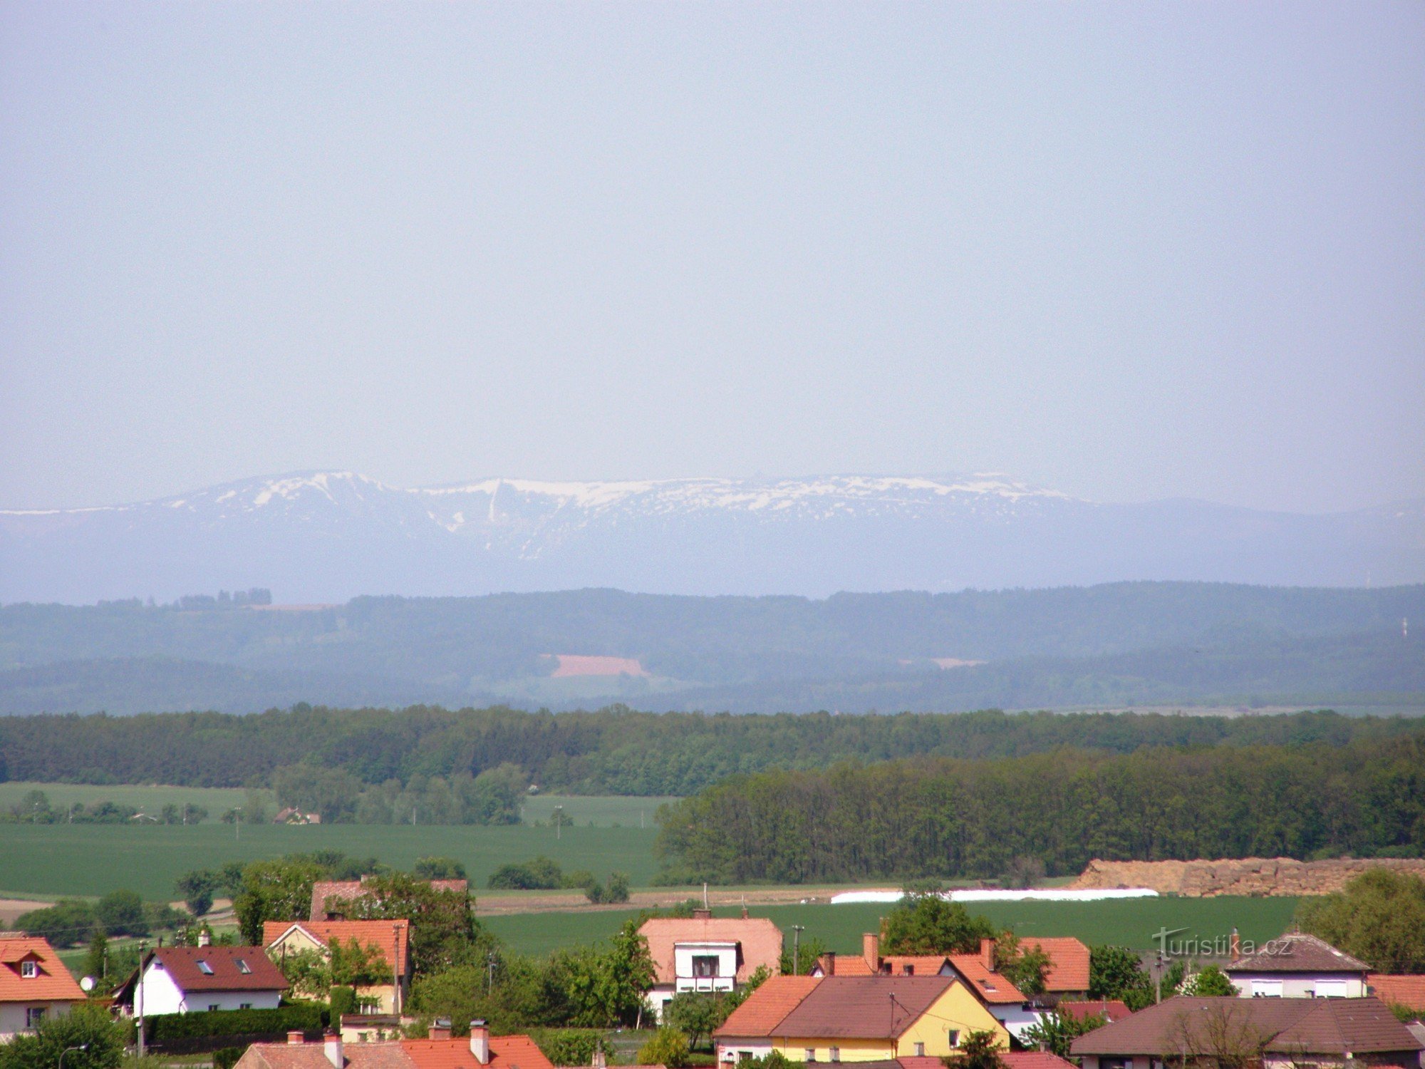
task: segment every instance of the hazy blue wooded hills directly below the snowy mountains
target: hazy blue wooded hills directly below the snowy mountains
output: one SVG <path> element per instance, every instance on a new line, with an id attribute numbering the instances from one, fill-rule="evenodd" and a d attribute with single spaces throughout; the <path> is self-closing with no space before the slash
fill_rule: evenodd
<path id="1" fill-rule="evenodd" d="M 0 713 L 325 706 L 958 711 L 1425 704 L 1425 586 L 0 607 Z M 623 659 L 560 673 L 553 654 Z"/>

